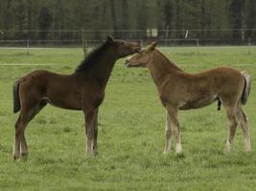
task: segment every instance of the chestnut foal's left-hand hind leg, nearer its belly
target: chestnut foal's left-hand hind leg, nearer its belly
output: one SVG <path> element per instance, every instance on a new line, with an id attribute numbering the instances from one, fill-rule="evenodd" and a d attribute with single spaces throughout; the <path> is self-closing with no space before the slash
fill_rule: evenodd
<path id="1" fill-rule="evenodd" d="M 226 139 L 225 151 L 231 151 L 231 144 L 236 134 L 238 120 L 236 117 L 236 107 L 226 107 L 226 116 L 229 122 L 229 136 Z"/>

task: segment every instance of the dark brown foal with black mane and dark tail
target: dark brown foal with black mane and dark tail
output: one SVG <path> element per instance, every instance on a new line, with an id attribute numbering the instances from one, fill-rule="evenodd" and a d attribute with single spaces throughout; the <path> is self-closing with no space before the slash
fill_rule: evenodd
<path id="1" fill-rule="evenodd" d="M 73 74 L 56 74 L 37 70 L 19 78 L 13 85 L 13 113 L 20 111 L 15 123 L 13 159 L 29 154 L 25 139 L 28 123 L 48 103 L 83 112 L 87 153 L 97 153 L 98 112 L 105 98 L 105 86 L 117 59 L 138 53 L 136 42 L 114 40 L 105 42 L 89 53 Z"/>

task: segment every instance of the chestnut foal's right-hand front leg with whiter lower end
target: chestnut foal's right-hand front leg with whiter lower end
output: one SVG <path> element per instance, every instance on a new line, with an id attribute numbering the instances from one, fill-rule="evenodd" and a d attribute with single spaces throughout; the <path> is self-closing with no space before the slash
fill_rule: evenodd
<path id="1" fill-rule="evenodd" d="M 177 120 L 178 109 L 173 106 L 167 106 L 166 109 L 170 117 L 171 128 L 172 128 L 173 135 L 175 137 L 175 143 L 176 143 L 175 153 L 181 153 L 182 148 L 181 148 L 181 140 L 180 140 L 180 129 L 179 129 L 179 124 Z"/>

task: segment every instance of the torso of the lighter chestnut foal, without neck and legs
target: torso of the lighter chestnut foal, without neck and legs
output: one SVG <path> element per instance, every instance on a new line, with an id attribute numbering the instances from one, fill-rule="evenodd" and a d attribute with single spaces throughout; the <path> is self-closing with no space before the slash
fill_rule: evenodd
<path id="1" fill-rule="evenodd" d="M 179 109 L 195 109 L 216 101 L 218 97 L 236 102 L 244 90 L 244 75 L 229 67 L 218 67 L 198 74 L 170 74 L 161 90 L 161 99 Z"/>

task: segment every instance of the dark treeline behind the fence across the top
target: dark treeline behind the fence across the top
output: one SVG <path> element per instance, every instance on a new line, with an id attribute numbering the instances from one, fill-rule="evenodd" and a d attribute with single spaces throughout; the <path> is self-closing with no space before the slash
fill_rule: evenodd
<path id="1" fill-rule="evenodd" d="M 190 38 L 239 43 L 256 38 L 253 29 L 255 0 L 0 0 L 0 39 L 78 39 L 81 30 L 93 31 L 86 32 L 90 39 L 109 31 L 121 38 L 184 38 L 189 30 Z"/>

